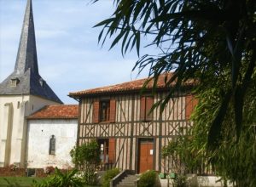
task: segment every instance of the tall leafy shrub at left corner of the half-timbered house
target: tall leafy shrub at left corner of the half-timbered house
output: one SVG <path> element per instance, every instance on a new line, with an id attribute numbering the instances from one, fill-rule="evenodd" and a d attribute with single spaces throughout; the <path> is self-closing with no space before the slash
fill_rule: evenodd
<path id="1" fill-rule="evenodd" d="M 100 148 L 96 140 L 73 148 L 70 151 L 73 163 L 83 171 L 85 184 L 97 184 L 96 168 L 99 166 Z"/>

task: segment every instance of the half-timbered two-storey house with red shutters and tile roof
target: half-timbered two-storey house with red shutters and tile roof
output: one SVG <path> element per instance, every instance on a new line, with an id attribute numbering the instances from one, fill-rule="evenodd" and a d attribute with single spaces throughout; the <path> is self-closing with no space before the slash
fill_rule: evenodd
<path id="1" fill-rule="evenodd" d="M 195 106 L 188 82 L 174 94 L 162 113 L 159 108 L 149 112 L 154 103 L 168 94 L 170 88 L 166 88 L 165 82 L 171 76 L 160 76 L 155 94 L 153 82 L 141 94 L 147 79 L 70 93 L 79 100 L 77 144 L 96 139 L 105 167 L 137 173 L 148 169 L 164 172 L 168 163 L 161 156 L 161 149 L 178 135 L 187 133 Z"/>

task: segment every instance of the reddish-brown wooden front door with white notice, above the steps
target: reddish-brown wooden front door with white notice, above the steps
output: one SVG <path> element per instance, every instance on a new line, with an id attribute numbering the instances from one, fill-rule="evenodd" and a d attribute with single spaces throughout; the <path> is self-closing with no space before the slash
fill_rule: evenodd
<path id="1" fill-rule="evenodd" d="M 147 170 L 153 169 L 153 156 L 154 156 L 153 147 L 154 147 L 153 139 L 140 139 L 139 159 L 138 159 L 139 173 L 144 173 Z"/>

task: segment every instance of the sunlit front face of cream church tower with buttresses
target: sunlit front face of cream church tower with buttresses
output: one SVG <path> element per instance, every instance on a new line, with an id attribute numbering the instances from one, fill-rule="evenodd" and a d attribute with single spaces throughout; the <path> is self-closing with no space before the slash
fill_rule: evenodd
<path id="1" fill-rule="evenodd" d="M 21 104 L 26 104 L 29 100 L 28 95 L 6 95 L 0 96 L 0 167 L 8 166 L 15 162 L 20 163 L 21 144 L 17 144 L 22 140 L 22 136 L 18 136 L 20 128 L 24 127 L 24 116 L 20 112 Z M 7 109 L 11 106 L 11 110 Z M 7 118 L 7 111 L 9 119 Z M 20 116 L 21 115 L 21 116 Z M 20 119 L 23 119 L 20 122 Z M 8 121 L 8 122 L 7 122 Z M 8 134 L 8 135 L 7 135 Z M 7 139 L 9 138 L 9 140 Z"/>

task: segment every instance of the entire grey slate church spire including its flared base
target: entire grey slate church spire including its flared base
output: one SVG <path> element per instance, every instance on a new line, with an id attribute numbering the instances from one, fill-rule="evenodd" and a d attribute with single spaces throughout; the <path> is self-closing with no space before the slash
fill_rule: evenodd
<path id="1" fill-rule="evenodd" d="M 0 83 L 0 95 L 32 94 L 62 103 L 39 75 L 32 0 L 27 0 L 15 71 Z"/>

